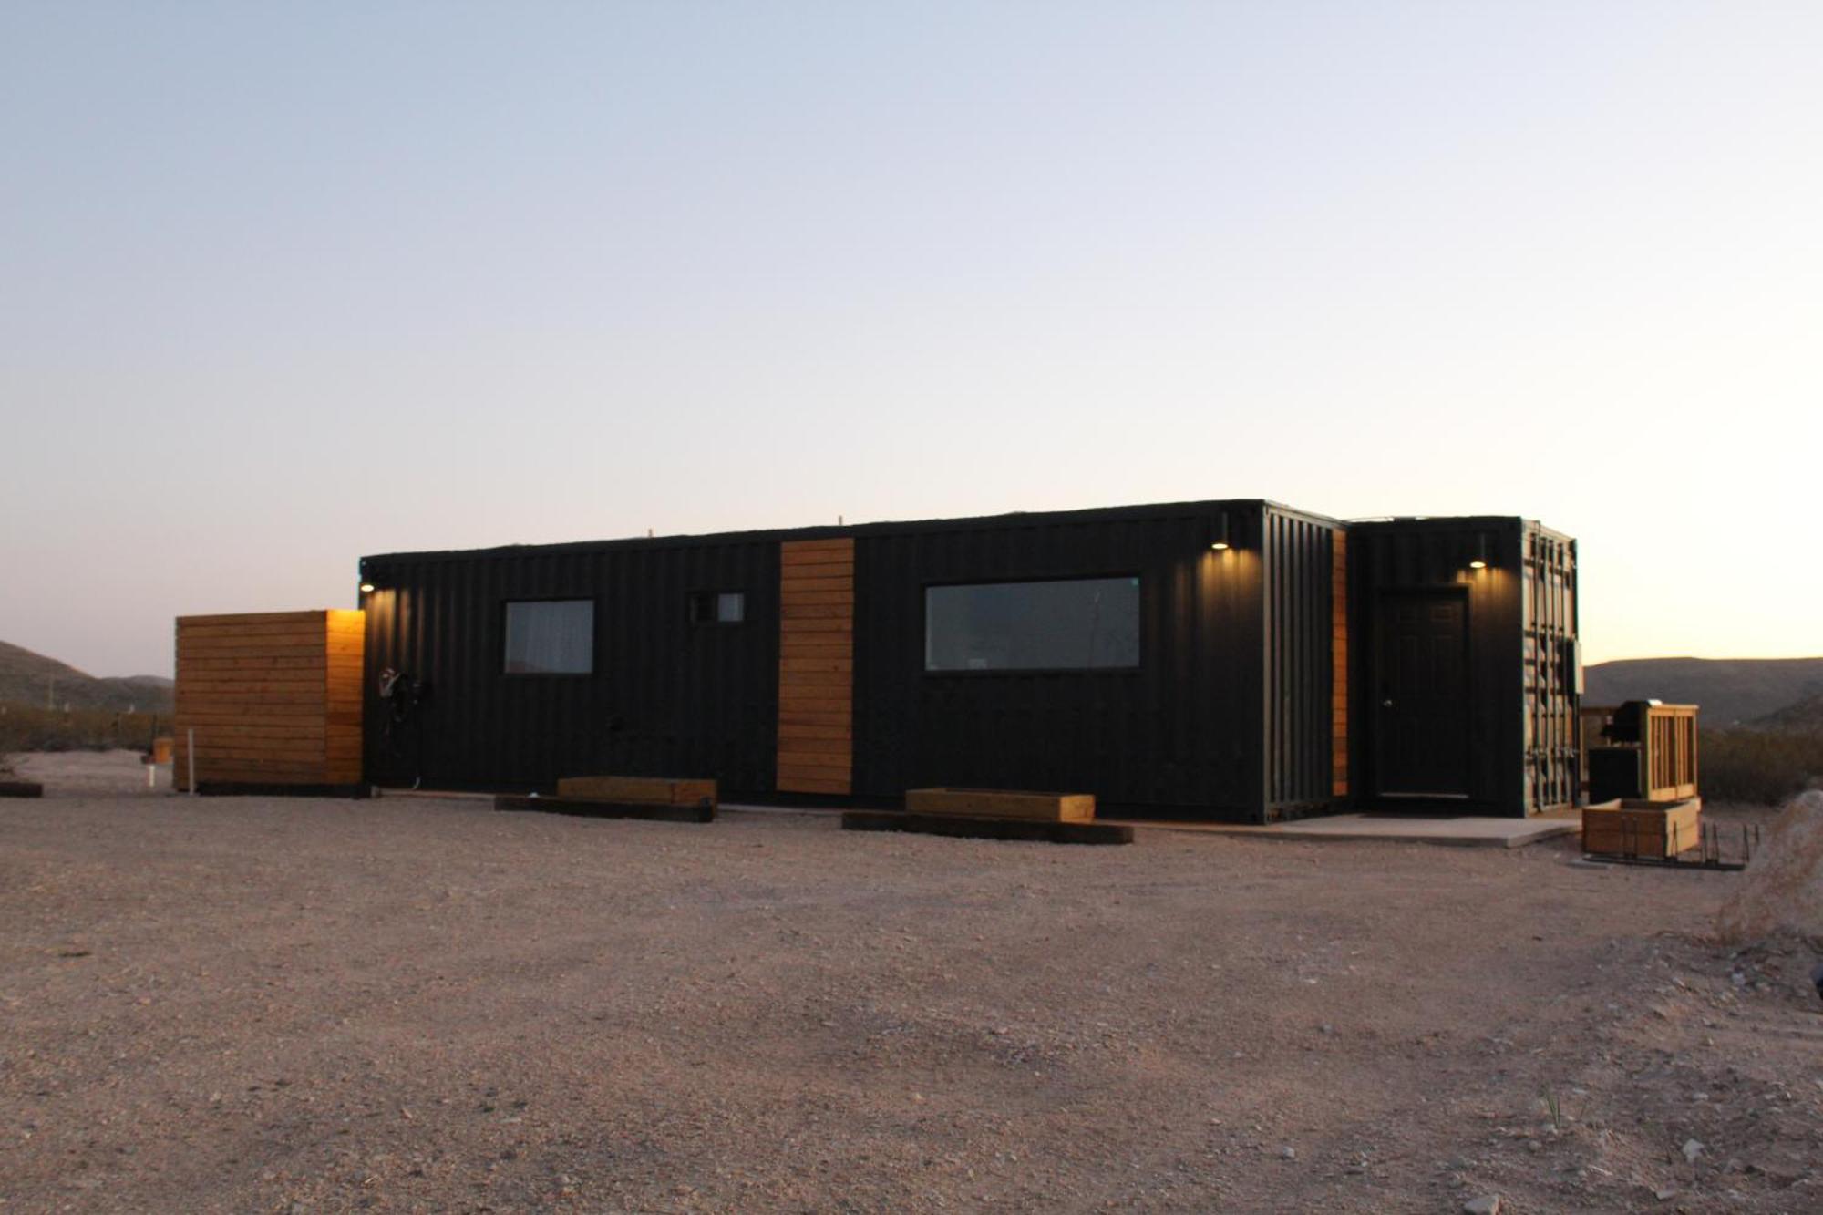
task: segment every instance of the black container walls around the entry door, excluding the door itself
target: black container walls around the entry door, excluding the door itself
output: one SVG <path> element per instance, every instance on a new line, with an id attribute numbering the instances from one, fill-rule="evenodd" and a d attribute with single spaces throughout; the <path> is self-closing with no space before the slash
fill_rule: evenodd
<path id="1" fill-rule="evenodd" d="M 1539 536 L 1551 536 L 1542 558 Z M 1486 569 L 1471 560 L 1486 544 Z M 1546 576 L 1535 575 L 1544 562 Z M 1575 779 L 1575 547 L 1509 516 L 1413 518 L 1349 525 L 1351 768 L 1358 805 L 1380 805 L 1382 602 L 1455 587 L 1468 602 L 1468 799 L 1477 814 L 1568 803 Z M 1539 664 L 1540 639 L 1544 649 Z M 1528 701 L 1529 690 L 1529 701 Z M 1568 732 L 1568 733 L 1566 733 Z M 1570 750 L 1564 752 L 1564 741 Z"/>

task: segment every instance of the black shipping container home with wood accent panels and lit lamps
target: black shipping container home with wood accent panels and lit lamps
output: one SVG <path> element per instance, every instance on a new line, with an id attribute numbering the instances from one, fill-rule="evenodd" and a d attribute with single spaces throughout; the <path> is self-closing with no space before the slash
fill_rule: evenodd
<path id="1" fill-rule="evenodd" d="M 1517 518 L 1190 502 L 397 553 L 361 580 L 376 784 L 1052 788 L 1256 823 L 1575 797 L 1575 545 Z"/>

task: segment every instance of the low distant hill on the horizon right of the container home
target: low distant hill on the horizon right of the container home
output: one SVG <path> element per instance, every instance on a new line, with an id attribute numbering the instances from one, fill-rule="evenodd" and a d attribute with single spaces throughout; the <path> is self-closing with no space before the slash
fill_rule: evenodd
<path id="1" fill-rule="evenodd" d="M 1759 724 L 1823 695 L 1823 659 L 1624 659 L 1582 671 L 1586 704 L 1699 704 L 1710 726 Z"/>

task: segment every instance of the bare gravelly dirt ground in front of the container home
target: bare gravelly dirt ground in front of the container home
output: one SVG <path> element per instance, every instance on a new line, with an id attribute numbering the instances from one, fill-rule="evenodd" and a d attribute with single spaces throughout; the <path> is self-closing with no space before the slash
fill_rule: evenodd
<path id="1" fill-rule="evenodd" d="M 1823 1210 L 1814 958 L 1710 943 L 1732 874 L 26 770 L 5 1215 Z"/>

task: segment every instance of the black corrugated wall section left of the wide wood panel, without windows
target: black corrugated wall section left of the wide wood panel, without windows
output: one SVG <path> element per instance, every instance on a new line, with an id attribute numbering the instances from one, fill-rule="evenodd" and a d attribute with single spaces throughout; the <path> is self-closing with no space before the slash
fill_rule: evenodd
<path id="1" fill-rule="evenodd" d="M 778 545 L 749 536 L 510 547 L 363 562 L 368 781 L 549 790 L 560 775 L 715 774 L 773 788 Z M 693 591 L 744 591 L 746 622 L 691 624 Z M 594 675 L 507 675 L 507 600 L 592 598 Z M 403 722 L 396 668 L 428 686 Z"/>

